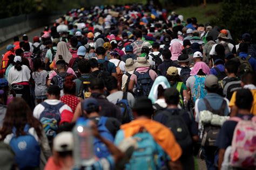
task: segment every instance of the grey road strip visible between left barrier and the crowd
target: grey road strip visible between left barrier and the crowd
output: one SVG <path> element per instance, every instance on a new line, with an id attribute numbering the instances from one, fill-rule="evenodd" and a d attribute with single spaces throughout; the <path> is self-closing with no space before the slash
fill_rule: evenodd
<path id="1" fill-rule="evenodd" d="M 35 36 L 40 36 L 40 33 L 44 31 L 44 27 L 39 27 L 38 29 L 35 29 L 35 30 L 31 30 L 29 32 L 26 32 L 25 34 L 28 35 L 29 37 L 29 41 L 32 42 L 33 41 L 33 37 Z M 22 35 L 19 36 L 19 40 L 21 41 L 22 40 Z M 11 39 L 11 40 L 8 40 L 2 44 L 0 44 L 0 54 L 4 54 L 6 52 L 6 46 L 8 44 L 12 44 L 14 41 Z M 0 55 L 0 56 L 1 56 Z"/>

